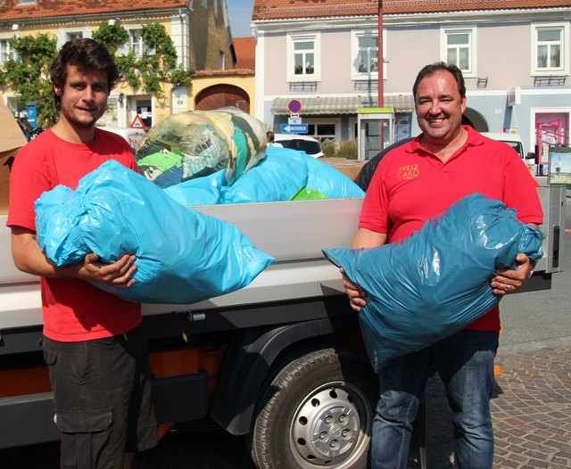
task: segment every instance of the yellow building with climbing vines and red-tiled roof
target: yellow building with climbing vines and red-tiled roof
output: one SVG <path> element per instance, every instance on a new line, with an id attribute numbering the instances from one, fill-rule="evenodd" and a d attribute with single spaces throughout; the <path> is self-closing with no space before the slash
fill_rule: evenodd
<path id="1" fill-rule="evenodd" d="M 57 39 L 59 49 L 74 37 L 92 37 L 102 22 L 128 30 L 128 41 L 119 46 L 120 54 L 145 52 L 141 29 L 161 24 L 175 46 L 182 70 L 232 70 L 236 62 L 229 29 L 226 0 L 151 0 L 128 2 L 75 2 L 61 0 L 4 0 L 0 3 L 0 68 L 15 57 L 11 37 L 47 34 Z M 202 86 L 201 86 L 202 87 Z M 14 112 L 26 109 L 18 103 L 17 90 L 0 89 L 4 102 Z M 192 86 L 161 84 L 161 93 L 145 93 L 120 82 L 112 90 L 102 125 L 129 127 L 142 120 L 149 128 L 172 113 L 194 109 Z"/>

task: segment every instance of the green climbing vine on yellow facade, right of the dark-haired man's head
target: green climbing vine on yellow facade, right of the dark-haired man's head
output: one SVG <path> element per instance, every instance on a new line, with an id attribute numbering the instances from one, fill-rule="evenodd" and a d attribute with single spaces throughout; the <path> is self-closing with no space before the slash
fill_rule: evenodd
<path id="1" fill-rule="evenodd" d="M 116 53 L 119 45 L 128 41 L 129 34 L 119 21 L 112 25 L 102 22 L 93 37 Z M 132 52 L 116 56 L 121 77 L 129 86 L 161 97 L 163 83 L 173 86 L 191 84 L 193 70 L 183 70 L 182 66 L 177 66 L 177 51 L 164 26 L 145 24 L 141 37 L 147 48 L 142 56 L 137 57 Z"/>

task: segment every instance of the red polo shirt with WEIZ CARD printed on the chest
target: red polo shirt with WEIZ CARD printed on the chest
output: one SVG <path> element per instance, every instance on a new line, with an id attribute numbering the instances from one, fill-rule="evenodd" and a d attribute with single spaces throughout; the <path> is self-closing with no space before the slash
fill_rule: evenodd
<path id="1" fill-rule="evenodd" d="M 466 143 L 444 163 L 420 146 L 421 136 L 388 152 L 368 187 L 359 226 L 399 242 L 471 193 L 504 202 L 522 223 L 541 224 L 537 185 L 524 161 L 507 144 L 465 128 Z M 500 330 L 499 309 L 468 329 Z"/>

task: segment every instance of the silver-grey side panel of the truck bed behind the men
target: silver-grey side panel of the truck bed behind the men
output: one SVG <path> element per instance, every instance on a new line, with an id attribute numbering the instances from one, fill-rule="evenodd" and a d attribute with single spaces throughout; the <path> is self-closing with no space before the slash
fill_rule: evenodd
<path id="1" fill-rule="evenodd" d="M 245 288 L 192 305 L 144 305 L 145 315 L 296 300 L 343 292 L 336 267 L 321 249 L 349 246 L 358 226 L 362 199 L 329 199 L 195 207 L 221 218 L 277 259 Z M 0 329 L 41 325 L 37 277 L 12 263 L 10 229 L 0 216 Z"/>

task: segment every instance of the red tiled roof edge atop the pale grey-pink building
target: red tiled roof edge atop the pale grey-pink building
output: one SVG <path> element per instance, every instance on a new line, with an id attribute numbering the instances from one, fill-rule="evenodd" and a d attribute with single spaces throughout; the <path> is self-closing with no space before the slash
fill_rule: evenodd
<path id="1" fill-rule="evenodd" d="M 385 14 L 571 6 L 569 0 L 384 0 Z M 252 19 L 377 15 L 377 0 L 254 0 Z"/>

